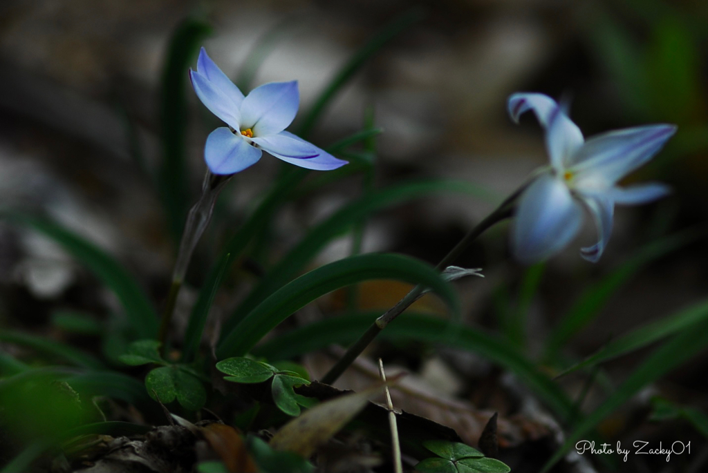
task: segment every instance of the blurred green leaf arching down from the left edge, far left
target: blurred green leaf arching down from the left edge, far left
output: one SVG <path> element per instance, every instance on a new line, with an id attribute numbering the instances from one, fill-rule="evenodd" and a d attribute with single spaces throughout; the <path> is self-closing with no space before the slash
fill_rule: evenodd
<path id="1" fill-rule="evenodd" d="M 26 214 L 4 214 L 12 221 L 37 230 L 61 245 L 118 296 L 130 325 L 141 338 L 155 337 L 157 315 L 145 293 L 112 256 L 59 224 Z"/>

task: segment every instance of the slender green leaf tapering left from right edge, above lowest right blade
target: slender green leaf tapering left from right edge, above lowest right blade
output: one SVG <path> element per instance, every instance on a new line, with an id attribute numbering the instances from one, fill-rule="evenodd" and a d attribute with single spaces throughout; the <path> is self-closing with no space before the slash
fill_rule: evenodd
<path id="1" fill-rule="evenodd" d="M 708 300 L 692 305 L 690 308 L 682 310 L 670 317 L 634 329 L 632 332 L 629 332 L 629 334 L 610 341 L 610 343 L 605 345 L 603 349 L 600 349 L 598 353 L 564 370 L 563 373 L 557 375 L 556 378 L 573 373 L 573 371 L 585 368 L 586 366 L 595 366 L 603 361 L 611 360 L 617 358 L 617 356 L 622 356 L 631 351 L 644 348 L 660 339 L 695 325 L 697 322 L 706 318 L 708 318 Z"/>

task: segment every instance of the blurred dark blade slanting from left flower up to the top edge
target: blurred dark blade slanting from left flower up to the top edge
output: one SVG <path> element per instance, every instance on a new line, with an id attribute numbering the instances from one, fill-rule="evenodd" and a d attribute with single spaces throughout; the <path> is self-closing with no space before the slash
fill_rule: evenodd
<path id="1" fill-rule="evenodd" d="M 414 23 L 417 23 L 423 18 L 423 13 L 418 8 L 404 13 L 399 18 L 396 18 L 392 23 L 384 27 L 380 33 L 373 37 L 370 42 L 367 42 L 358 52 L 354 54 L 349 62 L 338 72 L 338 74 L 329 83 L 329 86 L 320 94 L 312 109 L 309 110 L 304 117 L 302 124 L 299 127 L 299 136 L 306 137 L 309 132 L 312 132 L 317 120 L 321 117 L 322 112 L 334 98 L 343 86 L 353 78 L 361 67 L 376 54 L 379 49 L 384 47 L 387 42 L 399 35 L 402 31 L 409 28 Z"/>

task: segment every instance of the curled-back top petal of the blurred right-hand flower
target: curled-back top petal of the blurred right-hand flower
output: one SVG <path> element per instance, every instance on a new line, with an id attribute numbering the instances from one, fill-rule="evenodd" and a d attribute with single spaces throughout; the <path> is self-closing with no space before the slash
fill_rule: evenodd
<path id="1" fill-rule="evenodd" d="M 583 145 L 583 133 L 548 95 L 515 93 L 509 97 L 508 109 L 509 115 L 517 123 L 519 117 L 528 110 L 536 114 L 546 129 L 546 148 L 556 170 L 563 170 Z"/>

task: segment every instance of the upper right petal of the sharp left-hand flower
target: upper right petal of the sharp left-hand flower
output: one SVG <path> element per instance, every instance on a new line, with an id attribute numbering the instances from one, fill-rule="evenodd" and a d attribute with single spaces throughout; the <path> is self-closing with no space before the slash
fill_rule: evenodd
<path id="1" fill-rule="evenodd" d="M 266 83 L 244 98 L 241 122 L 253 130 L 253 136 L 278 134 L 295 119 L 299 103 L 297 81 Z"/>

